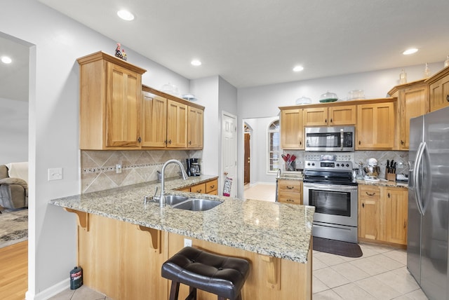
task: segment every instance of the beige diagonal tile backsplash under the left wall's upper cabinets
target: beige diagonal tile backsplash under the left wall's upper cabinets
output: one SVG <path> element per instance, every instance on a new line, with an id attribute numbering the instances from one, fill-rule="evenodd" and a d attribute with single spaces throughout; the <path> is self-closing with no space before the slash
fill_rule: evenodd
<path id="1" fill-rule="evenodd" d="M 81 193 L 152 182 L 169 159 L 186 167 L 187 158 L 201 156 L 202 151 L 187 150 L 81 151 Z M 117 164 L 122 166 L 121 173 L 116 172 Z M 167 165 L 166 177 L 177 177 L 178 172 L 177 165 Z"/>

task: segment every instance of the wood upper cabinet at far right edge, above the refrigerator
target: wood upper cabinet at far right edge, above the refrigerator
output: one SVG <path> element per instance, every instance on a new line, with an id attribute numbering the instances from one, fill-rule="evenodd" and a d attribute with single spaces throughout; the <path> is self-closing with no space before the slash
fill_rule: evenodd
<path id="1" fill-rule="evenodd" d="M 430 111 L 449 106 L 449 67 L 445 67 L 426 83 L 430 86 Z"/>

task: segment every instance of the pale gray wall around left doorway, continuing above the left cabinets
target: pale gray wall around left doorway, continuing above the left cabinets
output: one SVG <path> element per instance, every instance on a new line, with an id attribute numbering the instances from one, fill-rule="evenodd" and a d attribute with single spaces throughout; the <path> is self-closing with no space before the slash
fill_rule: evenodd
<path id="1" fill-rule="evenodd" d="M 75 217 L 48 205 L 53 198 L 80 192 L 76 58 L 98 50 L 113 54 L 116 41 L 35 0 L 4 1 L 1 11 L 1 31 L 30 46 L 27 299 L 46 299 L 54 292 L 48 288 L 68 287 L 76 264 Z M 180 93 L 189 91 L 188 79 L 123 47 L 129 62 L 149 70 L 143 83 L 160 88 L 169 81 Z M 48 182 L 47 169 L 55 167 L 64 168 L 64 179 Z"/>

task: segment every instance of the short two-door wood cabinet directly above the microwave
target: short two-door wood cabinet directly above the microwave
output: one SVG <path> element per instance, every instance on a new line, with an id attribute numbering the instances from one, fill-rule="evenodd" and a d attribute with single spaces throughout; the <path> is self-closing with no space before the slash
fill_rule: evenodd
<path id="1" fill-rule="evenodd" d="M 356 123 L 356 105 L 304 109 L 304 126 L 337 126 Z"/>

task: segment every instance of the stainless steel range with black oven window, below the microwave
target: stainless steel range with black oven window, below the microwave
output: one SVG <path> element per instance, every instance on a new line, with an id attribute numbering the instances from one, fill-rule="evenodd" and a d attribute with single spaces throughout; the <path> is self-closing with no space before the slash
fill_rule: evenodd
<path id="1" fill-rule="evenodd" d="M 357 243 L 357 182 L 336 155 L 304 162 L 304 205 L 315 207 L 313 236 Z"/>

